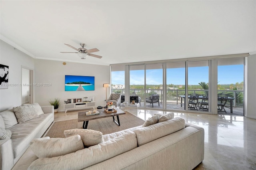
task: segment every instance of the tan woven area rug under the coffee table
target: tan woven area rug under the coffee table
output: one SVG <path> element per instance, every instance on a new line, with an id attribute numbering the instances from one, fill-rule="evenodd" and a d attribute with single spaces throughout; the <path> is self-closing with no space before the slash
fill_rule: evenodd
<path id="1" fill-rule="evenodd" d="M 144 120 L 136 117 L 132 113 L 129 113 L 127 111 L 125 111 L 125 113 L 125 115 L 119 115 L 120 126 L 114 123 L 112 117 L 106 117 L 89 121 L 87 128 L 100 131 L 102 132 L 102 134 L 109 134 L 132 127 L 137 127 L 143 125 L 143 123 L 145 122 Z M 77 121 L 78 119 L 54 122 L 50 129 L 46 132 L 46 134 L 44 134 L 44 136 L 49 136 L 50 138 L 65 138 L 64 130 L 83 128 L 83 122 Z"/>

